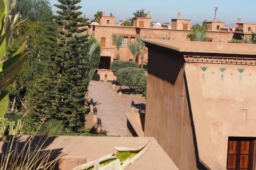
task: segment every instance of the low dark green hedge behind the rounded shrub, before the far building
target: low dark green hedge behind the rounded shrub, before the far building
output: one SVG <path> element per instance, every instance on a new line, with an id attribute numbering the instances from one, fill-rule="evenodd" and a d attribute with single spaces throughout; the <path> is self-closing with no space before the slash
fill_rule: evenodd
<path id="1" fill-rule="evenodd" d="M 113 71 L 114 75 L 116 75 L 117 70 L 127 68 L 127 67 L 138 68 L 138 64 L 136 62 L 133 62 L 133 61 L 115 60 L 111 64 L 110 69 Z"/>

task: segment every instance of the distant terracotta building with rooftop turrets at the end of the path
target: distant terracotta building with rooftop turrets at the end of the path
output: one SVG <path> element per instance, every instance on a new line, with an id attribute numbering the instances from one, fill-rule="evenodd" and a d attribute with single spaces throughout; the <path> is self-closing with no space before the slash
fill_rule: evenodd
<path id="1" fill-rule="evenodd" d="M 146 17 L 133 18 L 133 27 L 121 26 L 120 22 L 115 23 L 115 16 L 106 16 L 105 12 L 102 12 L 99 24 L 93 22 L 89 25 L 89 34 L 93 35 L 101 45 L 101 61 L 98 69 L 101 80 L 105 78 L 105 75 L 107 75 L 108 80 L 116 79 L 110 70 L 110 64 L 116 60 L 117 54 L 117 49 L 113 41 L 114 35 L 122 35 L 124 37 L 122 46 L 119 49 L 119 60 L 128 61 L 133 58 L 128 44 L 130 42 L 136 42 L 138 37 L 150 39 L 163 39 L 168 37 L 169 40 L 167 41 L 187 40 L 187 35 L 191 33 L 191 20 L 181 19 L 180 13 L 178 13 L 177 19 L 171 20 L 170 25 L 161 25 L 157 23 L 154 26 L 151 26 L 150 23 L 150 12 L 147 12 Z M 256 25 L 239 24 L 238 22 L 239 27 L 235 32 L 232 32 L 230 29 L 225 28 L 224 22 L 213 21 L 207 22 L 206 24 L 209 28 L 207 37 L 209 37 L 212 42 L 222 43 L 227 43 L 236 37 L 238 37 L 238 39 L 242 39 L 241 35 L 246 35 L 246 37 L 249 38 L 251 33 L 248 32 L 248 30 L 255 30 Z M 147 53 L 147 49 L 145 49 L 144 62 L 142 64 L 147 64 Z M 138 64 L 141 64 L 140 56 L 137 57 L 137 62 Z"/>

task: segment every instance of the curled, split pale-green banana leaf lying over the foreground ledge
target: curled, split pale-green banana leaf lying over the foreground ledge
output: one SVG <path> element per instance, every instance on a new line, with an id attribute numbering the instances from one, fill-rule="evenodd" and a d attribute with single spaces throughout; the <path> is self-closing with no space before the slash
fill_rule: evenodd
<path id="1" fill-rule="evenodd" d="M 91 162 L 76 166 L 73 170 L 124 170 L 138 160 L 151 145 L 151 141 L 140 148 L 116 147 L 115 154 L 109 154 Z"/>

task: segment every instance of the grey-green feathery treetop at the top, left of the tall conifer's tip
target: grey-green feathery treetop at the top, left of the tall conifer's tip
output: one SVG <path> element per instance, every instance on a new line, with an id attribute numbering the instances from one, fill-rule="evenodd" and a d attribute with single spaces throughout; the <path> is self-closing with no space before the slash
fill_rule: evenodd
<path id="1" fill-rule="evenodd" d="M 36 22 L 52 20 L 52 8 L 48 0 L 17 0 L 17 10 L 21 19 L 28 18 Z"/>

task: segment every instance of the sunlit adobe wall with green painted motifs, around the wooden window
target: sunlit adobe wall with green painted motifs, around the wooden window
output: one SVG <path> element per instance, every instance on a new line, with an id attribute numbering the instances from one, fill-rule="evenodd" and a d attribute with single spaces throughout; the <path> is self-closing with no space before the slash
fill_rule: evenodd
<path id="1" fill-rule="evenodd" d="M 210 140 L 217 149 L 213 151 L 217 156 L 215 159 L 226 167 L 228 137 L 256 136 L 256 67 L 231 64 L 188 65 L 193 81 L 200 82 L 200 86 L 188 88 L 192 93 L 196 88 L 202 91 L 201 107 L 205 108 Z M 210 151 L 209 147 L 205 148 Z"/>

